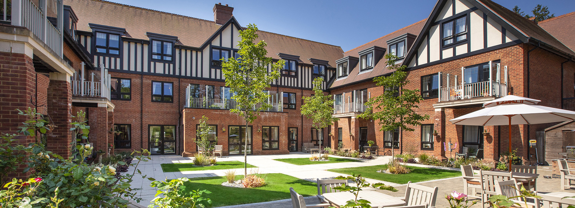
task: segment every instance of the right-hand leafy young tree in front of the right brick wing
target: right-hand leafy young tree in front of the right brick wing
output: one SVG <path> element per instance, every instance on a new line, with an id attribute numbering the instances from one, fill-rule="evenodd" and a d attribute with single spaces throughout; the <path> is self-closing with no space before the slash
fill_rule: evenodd
<path id="1" fill-rule="evenodd" d="M 409 80 L 405 68 L 396 64 L 397 56 L 393 54 L 385 55 L 388 59 L 386 64 L 388 70 L 394 71 L 390 76 L 378 76 L 373 79 L 377 86 L 385 88 L 383 94 L 370 98 L 367 101 L 367 109 L 359 115 L 360 118 L 370 118 L 378 120 L 381 125 L 379 131 L 393 131 L 395 129 L 414 131 L 413 127 L 421 125 L 421 121 L 427 120 L 429 115 L 417 114 L 415 109 L 419 108 L 417 104 L 423 101 L 419 90 L 409 90 L 404 88 Z M 392 138 L 393 140 L 393 138 Z M 392 141 L 392 161 L 394 157 Z"/>

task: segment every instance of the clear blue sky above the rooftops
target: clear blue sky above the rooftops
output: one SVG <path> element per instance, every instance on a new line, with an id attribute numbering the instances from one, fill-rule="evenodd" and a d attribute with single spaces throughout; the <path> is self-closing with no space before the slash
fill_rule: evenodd
<path id="1" fill-rule="evenodd" d="M 221 2 L 234 7 L 233 16 L 242 26 L 253 23 L 260 30 L 285 34 L 332 45 L 343 51 L 427 18 L 435 0 L 396 1 L 183 1 L 183 0 L 109 0 L 213 20 L 213 5 Z M 555 16 L 575 11 L 573 0 L 494 0 L 512 9 L 519 6 L 531 14 L 535 5 L 549 6 Z M 409 9 L 408 9 L 409 8 Z"/>

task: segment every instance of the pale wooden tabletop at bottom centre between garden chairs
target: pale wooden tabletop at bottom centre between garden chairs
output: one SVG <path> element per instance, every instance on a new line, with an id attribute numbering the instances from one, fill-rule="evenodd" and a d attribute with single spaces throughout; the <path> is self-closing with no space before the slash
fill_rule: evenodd
<path id="1" fill-rule="evenodd" d="M 355 199 L 355 195 L 348 191 L 325 193 L 322 196 L 336 207 L 346 205 L 347 201 Z M 358 199 L 365 199 L 371 202 L 371 207 L 405 205 L 405 202 L 401 199 L 377 191 L 359 191 Z"/>

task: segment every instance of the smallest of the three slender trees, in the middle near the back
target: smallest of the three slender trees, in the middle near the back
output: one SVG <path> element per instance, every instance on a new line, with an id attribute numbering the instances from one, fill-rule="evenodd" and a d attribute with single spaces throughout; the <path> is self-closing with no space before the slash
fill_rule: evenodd
<path id="1" fill-rule="evenodd" d="M 312 126 L 316 129 L 327 128 L 333 122 L 338 121 L 339 118 L 333 117 L 333 99 L 331 96 L 324 95 L 321 90 L 321 83 L 323 78 L 313 79 L 313 97 L 303 97 L 304 105 L 301 106 L 301 114 L 312 119 Z M 323 136 L 323 135 L 322 135 Z M 320 140 L 320 157 L 321 157 L 321 141 Z"/>

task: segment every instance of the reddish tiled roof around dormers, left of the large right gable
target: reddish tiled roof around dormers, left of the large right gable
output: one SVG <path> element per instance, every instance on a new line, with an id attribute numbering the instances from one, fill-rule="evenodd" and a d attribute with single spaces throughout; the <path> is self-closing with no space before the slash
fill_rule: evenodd
<path id="1" fill-rule="evenodd" d="M 363 51 L 367 48 L 370 48 L 373 46 L 388 48 L 388 44 L 386 43 L 386 41 L 388 41 L 388 40 L 391 40 L 395 37 L 401 36 L 405 33 L 411 33 L 411 34 L 417 35 L 417 34 L 419 34 L 421 29 L 423 28 L 423 25 L 425 24 L 425 20 L 427 20 L 427 19 L 415 22 L 414 24 L 406 26 L 405 28 L 401 28 L 395 32 L 386 34 L 383 37 L 380 37 L 380 38 L 377 38 L 373 41 L 370 41 L 369 43 L 366 43 L 366 44 L 363 44 L 357 48 L 351 49 L 350 51 L 347 51 L 343 55 L 343 57 L 354 56 L 354 57 L 359 58 L 359 52 Z M 407 45 L 405 51 L 409 51 L 409 48 L 411 48 L 411 45 Z M 387 54 L 387 51 L 386 51 L 386 54 Z M 346 84 L 355 83 L 355 82 L 359 82 L 359 81 L 366 80 L 366 79 L 371 79 L 371 78 L 374 78 L 376 76 L 389 74 L 392 71 L 387 70 L 385 60 L 383 60 L 383 59 L 384 58 L 382 57 L 382 60 L 380 60 L 377 64 L 375 64 L 372 71 L 362 72 L 361 74 L 359 74 L 359 64 L 356 64 L 355 68 L 353 68 L 350 71 L 350 74 L 347 75 L 347 78 L 335 80 L 332 83 L 331 87 L 332 88 L 333 87 L 339 87 L 339 86 L 343 86 Z"/>

